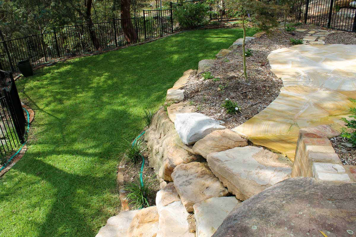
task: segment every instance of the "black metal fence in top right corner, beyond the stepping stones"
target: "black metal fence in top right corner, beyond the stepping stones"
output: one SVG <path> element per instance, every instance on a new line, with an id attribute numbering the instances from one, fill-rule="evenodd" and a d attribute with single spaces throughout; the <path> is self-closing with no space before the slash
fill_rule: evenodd
<path id="1" fill-rule="evenodd" d="M 356 32 L 356 6 L 349 0 L 293 0 L 279 21 L 301 22 Z"/>

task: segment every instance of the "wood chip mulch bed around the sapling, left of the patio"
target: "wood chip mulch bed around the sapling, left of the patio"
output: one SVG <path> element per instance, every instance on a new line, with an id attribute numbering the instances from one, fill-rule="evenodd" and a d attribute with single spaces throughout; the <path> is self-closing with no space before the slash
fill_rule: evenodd
<path id="1" fill-rule="evenodd" d="M 303 24 L 295 28 L 305 28 L 308 31 L 325 29 Z M 244 123 L 276 99 L 283 86 L 282 80 L 270 70 L 268 54 L 276 49 L 293 46 L 289 39 L 302 39 L 308 31 L 286 32 L 281 27 L 248 42 L 246 48 L 252 49 L 253 55 L 246 58 L 247 81 L 243 73 L 242 47 L 224 58 L 217 59 L 214 66 L 208 70 L 215 80 L 203 80 L 201 74 L 190 76 L 184 87 L 184 100 L 196 106 L 195 112 L 224 121 L 224 126 L 227 128 L 235 128 Z M 328 29 L 328 31 L 335 30 Z M 353 35 L 355 36 L 354 33 Z M 332 43 L 337 44 L 346 43 L 345 38 L 349 39 L 351 36 L 349 32 L 337 31 L 326 38 L 331 43 L 329 37 L 332 37 Z M 356 44 L 351 39 L 347 42 Z M 226 98 L 237 102 L 241 107 L 241 113 L 226 113 L 226 109 L 221 106 Z"/>

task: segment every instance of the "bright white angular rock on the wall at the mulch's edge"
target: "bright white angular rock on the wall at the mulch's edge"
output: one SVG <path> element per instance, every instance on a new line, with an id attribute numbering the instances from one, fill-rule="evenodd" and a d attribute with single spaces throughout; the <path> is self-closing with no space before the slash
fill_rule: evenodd
<path id="1" fill-rule="evenodd" d="M 176 115 L 174 126 L 184 144 L 192 145 L 215 130 L 225 129 L 223 122 L 201 113 L 181 113 Z"/>

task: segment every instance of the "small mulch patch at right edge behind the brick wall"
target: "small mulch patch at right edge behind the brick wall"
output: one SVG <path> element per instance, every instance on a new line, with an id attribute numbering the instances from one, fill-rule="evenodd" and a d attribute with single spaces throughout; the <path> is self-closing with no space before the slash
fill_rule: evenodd
<path id="1" fill-rule="evenodd" d="M 356 147 L 348 147 L 347 141 L 341 136 L 330 140 L 343 165 L 356 165 Z"/>

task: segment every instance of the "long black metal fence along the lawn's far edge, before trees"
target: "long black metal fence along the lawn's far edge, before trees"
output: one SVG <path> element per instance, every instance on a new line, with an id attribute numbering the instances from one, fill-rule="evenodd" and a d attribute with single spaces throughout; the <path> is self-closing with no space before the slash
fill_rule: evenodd
<path id="1" fill-rule="evenodd" d="M 143 17 L 56 27 L 43 34 L 0 42 L 0 70 L 18 71 L 17 62 L 24 59 L 31 59 L 32 64 L 37 66 L 62 56 L 95 52 L 166 36 L 181 29 L 173 14 L 177 7 L 189 9 L 192 4 L 204 2 L 172 2 L 171 9 L 144 10 Z M 222 10 L 226 6 L 221 2 L 210 4 L 210 11 L 206 12 L 207 20 L 238 16 L 238 10 Z M 130 39 L 128 34 L 131 35 Z"/>

